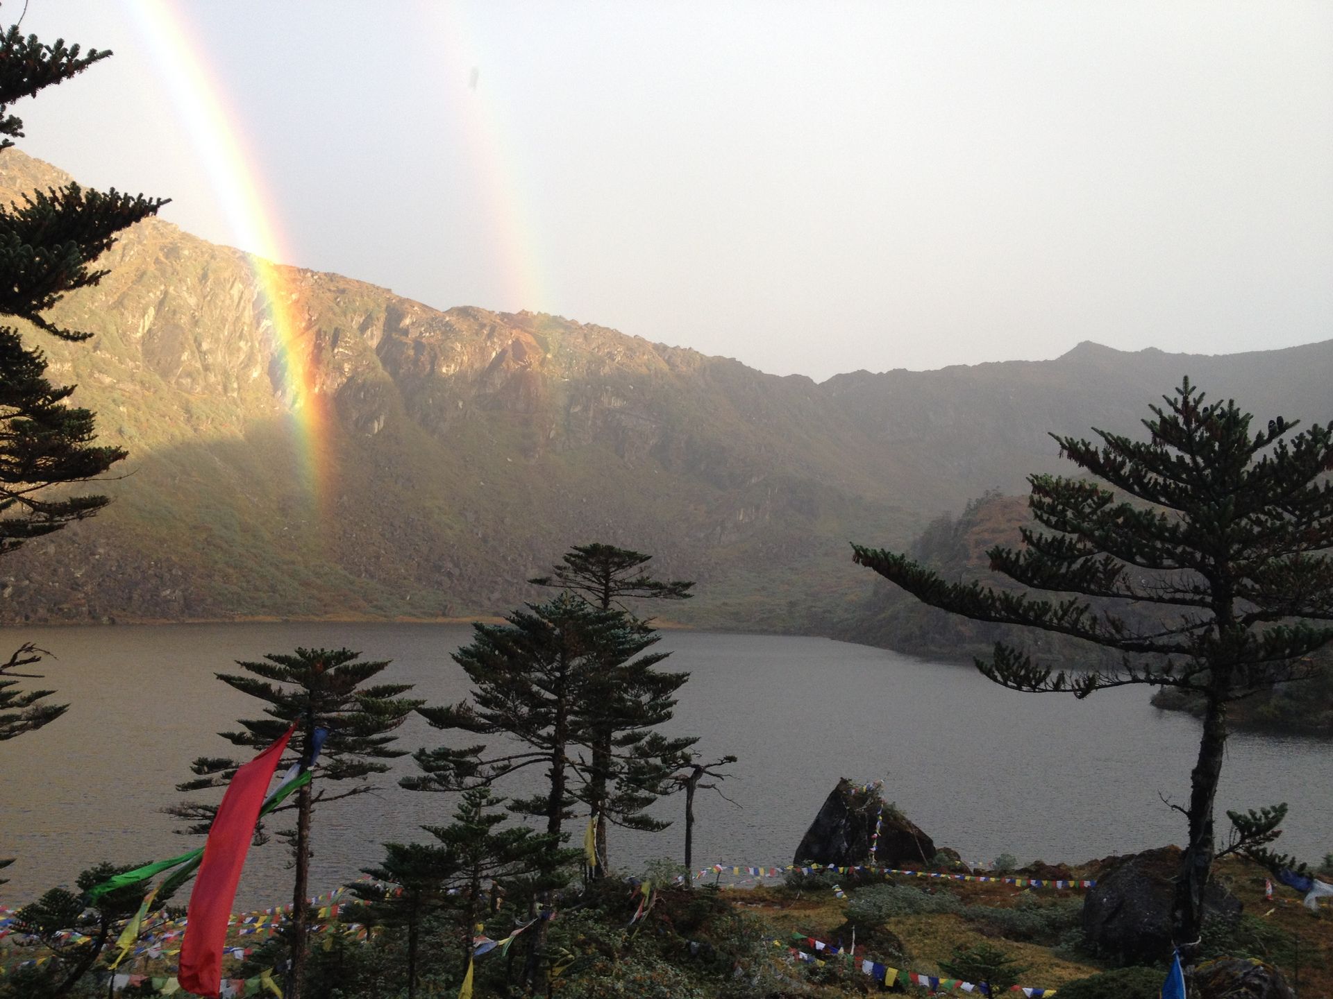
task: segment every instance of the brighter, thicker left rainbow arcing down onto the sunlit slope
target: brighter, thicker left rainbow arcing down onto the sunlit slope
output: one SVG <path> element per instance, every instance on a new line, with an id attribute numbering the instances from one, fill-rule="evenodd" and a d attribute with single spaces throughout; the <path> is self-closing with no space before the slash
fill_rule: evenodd
<path id="1" fill-rule="evenodd" d="M 317 503 L 329 474 L 328 413 L 311 364 L 313 330 L 303 322 L 295 273 L 276 262 L 291 258 L 279 234 L 279 213 L 265 196 L 244 129 L 227 108 L 225 89 L 208 72 L 205 48 L 195 40 L 181 11 L 171 0 L 127 0 L 125 5 L 208 170 L 233 240 L 244 248 L 255 273 L 275 357 L 283 369 L 281 394 L 291 413 L 297 476 Z"/>

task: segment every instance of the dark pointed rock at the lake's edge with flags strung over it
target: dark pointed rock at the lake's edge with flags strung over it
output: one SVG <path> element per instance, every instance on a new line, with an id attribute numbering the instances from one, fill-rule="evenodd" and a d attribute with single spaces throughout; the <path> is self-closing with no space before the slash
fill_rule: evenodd
<path id="1" fill-rule="evenodd" d="M 870 855 L 874 825 L 880 839 Z M 820 814 L 805 830 L 793 863 L 824 863 L 834 867 L 874 864 L 920 867 L 934 858 L 934 842 L 897 809 L 885 803 L 878 785 L 858 786 L 846 778 L 824 799 Z"/>

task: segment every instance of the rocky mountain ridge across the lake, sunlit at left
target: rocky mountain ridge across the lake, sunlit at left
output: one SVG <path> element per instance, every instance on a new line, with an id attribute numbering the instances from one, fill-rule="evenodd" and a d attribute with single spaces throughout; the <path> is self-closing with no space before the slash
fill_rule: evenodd
<path id="1" fill-rule="evenodd" d="M 0 153 L 0 198 L 64 180 Z M 151 220 L 107 265 L 61 308 L 96 337 L 43 346 L 129 449 L 128 474 L 101 515 L 0 561 L 0 619 L 493 614 L 536 597 L 524 581 L 569 545 L 607 541 L 698 581 L 672 618 L 841 634 L 873 589 L 849 539 L 906 545 L 988 488 L 1022 492 L 1061 466 L 1049 430 L 1132 432 L 1186 373 L 1265 418 L 1333 416 L 1333 341 L 1229 357 L 1082 344 L 816 384 L 283 268 L 333 413 L 312 496 L 245 254 Z"/>

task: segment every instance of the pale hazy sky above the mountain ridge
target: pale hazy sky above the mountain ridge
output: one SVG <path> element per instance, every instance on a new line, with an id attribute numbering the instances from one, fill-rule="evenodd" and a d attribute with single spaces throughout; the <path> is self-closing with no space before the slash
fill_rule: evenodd
<path id="1" fill-rule="evenodd" d="M 245 245 L 203 125 L 287 262 L 439 308 L 817 378 L 1333 337 L 1322 0 L 29 0 L 23 27 L 116 52 L 15 105 L 23 149 Z M 155 45 L 229 128 L 183 120 Z"/>

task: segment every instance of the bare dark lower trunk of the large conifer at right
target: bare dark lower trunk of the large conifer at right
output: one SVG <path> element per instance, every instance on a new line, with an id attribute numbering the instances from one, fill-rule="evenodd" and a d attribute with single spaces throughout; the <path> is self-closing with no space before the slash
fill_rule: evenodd
<path id="1" fill-rule="evenodd" d="M 1198 743 L 1198 762 L 1190 774 L 1189 843 L 1181 856 L 1176 878 L 1172 922 L 1176 946 L 1186 964 L 1192 964 L 1198 951 L 1200 930 L 1204 924 L 1204 888 L 1213 866 L 1213 802 L 1222 773 L 1222 754 L 1226 749 L 1226 703 L 1216 691 L 1230 683 L 1230 670 L 1224 677 L 1214 675 L 1213 691 L 1208 697 L 1204 714 L 1204 733 Z"/>

